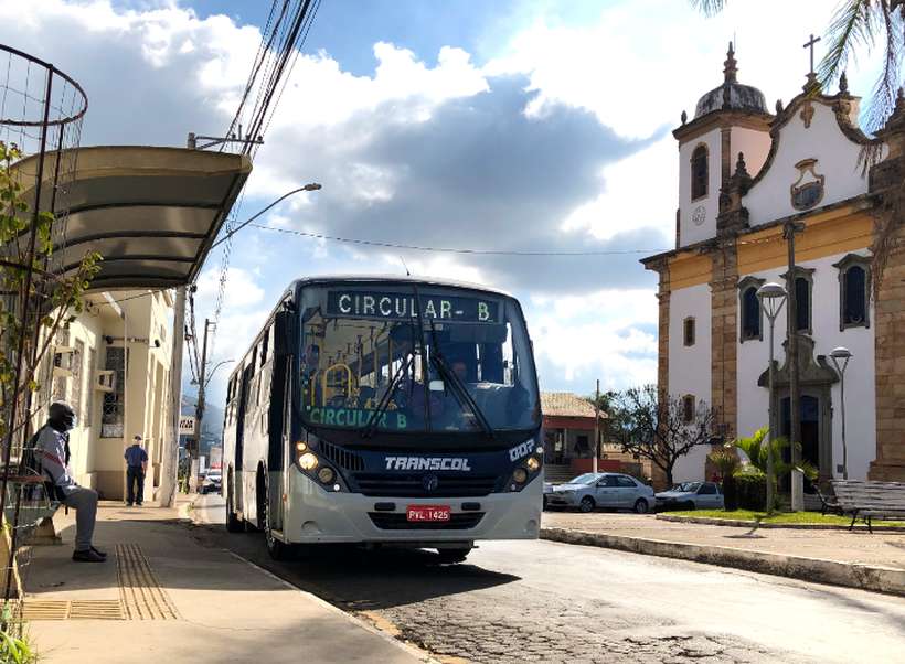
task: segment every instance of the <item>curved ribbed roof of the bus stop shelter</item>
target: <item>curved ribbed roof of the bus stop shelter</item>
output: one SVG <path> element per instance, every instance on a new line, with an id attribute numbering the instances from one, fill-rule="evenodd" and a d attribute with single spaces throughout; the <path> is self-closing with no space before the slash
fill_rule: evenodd
<path id="1" fill-rule="evenodd" d="M 41 210 L 64 151 L 45 156 Z M 39 157 L 14 164 L 25 200 L 33 200 Z M 184 148 L 81 148 L 72 176 L 57 188 L 68 210 L 65 240 L 54 247 L 60 269 L 75 269 L 88 251 L 104 260 L 93 286 L 155 288 L 195 278 L 242 191 L 252 164 L 243 154 Z M 64 191 L 65 190 L 65 191 Z M 60 208 L 60 204 L 56 205 Z M 65 211 L 63 211 L 65 212 Z"/>

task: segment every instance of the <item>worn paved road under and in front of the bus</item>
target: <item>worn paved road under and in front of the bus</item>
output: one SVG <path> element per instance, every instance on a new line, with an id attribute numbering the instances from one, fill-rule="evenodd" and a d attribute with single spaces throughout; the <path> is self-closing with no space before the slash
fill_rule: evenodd
<path id="1" fill-rule="evenodd" d="M 220 496 L 196 516 L 222 522 Z M 195 537 L 430 652 L 473 662 L 905 663 L 905 599 L 552 542 L 268 559 L 259 534 Z"/>

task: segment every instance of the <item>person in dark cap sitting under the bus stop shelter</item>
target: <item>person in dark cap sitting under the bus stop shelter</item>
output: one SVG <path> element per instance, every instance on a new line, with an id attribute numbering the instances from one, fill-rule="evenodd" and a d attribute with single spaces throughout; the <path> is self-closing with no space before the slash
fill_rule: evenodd
<path id="1" fill-rule="evenodd" d="M 75 426 L 75 413 L 68 404 L 54 401 L 47 410 L 47 424 L 35 433 L 34 453 L 41 471 L 52 483 L 53 500 L 76 511 L 75 551 L 77 563 L 104 563 L 107 554 L 92 545 L 97 518 L 97 492 L 75 483 L 70 473 L 70 429 Z"/>

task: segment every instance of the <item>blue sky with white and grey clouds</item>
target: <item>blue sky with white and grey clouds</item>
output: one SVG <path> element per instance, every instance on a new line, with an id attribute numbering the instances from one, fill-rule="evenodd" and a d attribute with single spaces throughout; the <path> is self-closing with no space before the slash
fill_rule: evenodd
<path id="1" fill-rule="evenodd" d="M 0 41 L 83 84 L 83 144 L 184 146 L 189 131 L 225 130 L 268 9 L 263 0 L 0 0 Z M 826 0 L 764 0 L 706 19 L 686 0 L 322 0 L 237 218 L 306 182 L 323 190 L 276 207 L 260 219 L 270 229 L 236 236 L 213 361 L 241 356 L 290 280 L 403 274 L 405 260 L 415 275 L 515 293 L 544 389 L 653 381 L 656 280 L 638 259 L 672 243 L 670 130 L 722 82 L 733 36 L 739 79 L 769 107 L 788 101 L 807 73 L 801 44 L 831 10 Z M 850 68 L 855 93 L 871 88 L 874 63 Z M 275 228 L 611 255 L 468 257 Z M 221 257 L 200 278 L 200 319 L 213 314 Z"/>

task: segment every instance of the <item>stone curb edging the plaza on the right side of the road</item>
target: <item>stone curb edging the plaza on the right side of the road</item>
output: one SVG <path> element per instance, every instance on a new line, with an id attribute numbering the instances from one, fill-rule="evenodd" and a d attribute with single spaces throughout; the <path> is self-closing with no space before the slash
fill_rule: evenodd
<path id="1" fill-rule="evenodd" d="M 703 546 L 683 542 L 642 539 L 625 535 L 586 533 L 567 528 L 541 528 L 541 539 L 611 548 L 646 556 L 678 558 L 758 574 L 788 577 L 813 583 L 829 583 L 905 597 L 905 569 L 803 558 L 724 546 Z"/>

